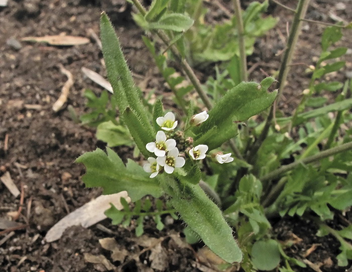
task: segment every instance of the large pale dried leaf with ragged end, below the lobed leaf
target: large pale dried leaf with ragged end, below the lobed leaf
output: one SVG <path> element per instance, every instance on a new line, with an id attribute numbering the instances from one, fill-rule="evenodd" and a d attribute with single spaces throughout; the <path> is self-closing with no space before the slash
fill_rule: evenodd
<path id="1" fill-rule="evenodd" d="M 52 242 L 59 239 L 64 230 L 70 226 L 82 225 L 83 227 L 90 227 L 107 218 L 104 212 L 110 208 L 110 203 L 112 203 L 117 209 L 122 210 L 123 206 L 120 202 L 121 197 L 125 198 L 127 202 L 131 201 L 127 192 L 122 191 L 112 195 L 99 196 L 84 204 L 82 207 L 66 215 L 49 229 L 44 240 Z"/>

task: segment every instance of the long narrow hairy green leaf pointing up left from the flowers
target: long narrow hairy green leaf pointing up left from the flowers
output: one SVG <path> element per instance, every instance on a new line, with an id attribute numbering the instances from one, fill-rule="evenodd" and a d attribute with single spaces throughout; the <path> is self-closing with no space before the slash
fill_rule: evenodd
<path id="1" fill-rule="evenodd" d="M 149 123 L 150 113 L 140 100 L 139 91 L 134 85 L 115 30 L 105 13 L 101 15 L 100 29 L 108 79 L 113 87 L 114 99 L 119 110 L 123 112 L 129 106 L 140 118 L 140 125 L 143 125 L 148 133 L 152 133 L 153 128 Z"/>

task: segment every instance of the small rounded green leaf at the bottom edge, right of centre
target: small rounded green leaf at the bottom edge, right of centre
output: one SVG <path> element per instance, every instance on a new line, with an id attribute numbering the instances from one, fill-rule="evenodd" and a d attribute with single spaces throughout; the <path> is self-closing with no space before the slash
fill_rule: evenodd
<path id="1" fill-rule="evenodd" d="M 259 270 L 269 271 L 280 263 L 280 250 L 278 242 L 270 239 L 256 241 L 251 251 L 251 260 Z"/>

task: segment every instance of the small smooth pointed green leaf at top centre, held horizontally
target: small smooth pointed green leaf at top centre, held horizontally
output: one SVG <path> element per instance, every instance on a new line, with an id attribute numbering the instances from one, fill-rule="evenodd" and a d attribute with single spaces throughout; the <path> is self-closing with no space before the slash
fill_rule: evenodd
<path id="1" fill-rule="evenodd" d="M 159 21 L 149 23 L 149 29 L 162 29 L 182 32 L 190 29 L 194 21 L 183 14 L 172 13 L 164 15 Z"/>

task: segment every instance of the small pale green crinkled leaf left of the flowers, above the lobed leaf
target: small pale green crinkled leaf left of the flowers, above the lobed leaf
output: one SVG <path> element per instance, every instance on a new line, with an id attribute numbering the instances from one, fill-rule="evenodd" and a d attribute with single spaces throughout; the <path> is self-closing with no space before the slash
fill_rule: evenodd
<path id="1" fill-rule="evenodd" d="M 132 146 L 134 144 L 128 129 L 122 125 L 116 125 L 112 121 L 99 124 L 96 137 L 107 143 L 109 147 Z"/>

